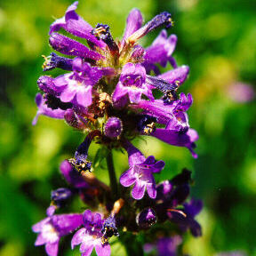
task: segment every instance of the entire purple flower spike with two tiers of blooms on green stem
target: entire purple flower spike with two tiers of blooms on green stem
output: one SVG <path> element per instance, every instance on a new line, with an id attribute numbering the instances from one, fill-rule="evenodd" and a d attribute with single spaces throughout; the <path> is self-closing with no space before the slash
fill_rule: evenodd
<path id="1" fill-rule="evenodd" d="M 131 142 L 139 136 L 153 136 L 170 145 L 188 148 L 197 157 L 194 148 L 198 135 L 189 127 L 187 115 L 192 96 L 178 93 L 189 68 L 179 67 L 172 57 L 177 36 L 167 36 L 164 29 L 148 48 L 139 44 L 142 36 L 156 28 L 171 28 L 171 14 L 162 12 L 143 25 L 140 11 L 133 9 L 126 21 L 124 37 L 115 41 L 108 25 L 99 23 L 93 28 L 83 20 L 76 13 L 77 4 L 71 4 L 64 17 L 50 27 L 49 44 L 66 56 L 52 52 L 44 57 L 43 69 L 61 68 L 68 73 L 39 77 L 37 84 L 44 94 L 36 95 L 38 111 L 33 124 L 40 115 L 64 119 L 87 136 L 74 156 L 60 165 L 72 189 L 52 191 L 48 217 L 33 227 L 34 232 L 40 233 L 36 245 L 45 244 L 47 254 L 56 256 L 60 237 L 80 228 L 72 238 L 72 249 L 80 244 L 83 256 L 91 255 L 93 248 L 99 256 L 110 255 L 111 236 L 126 241 L 122 237 L 127 234 L 153 230 L 166 221 L 176 224 L 177 234 L 189 229 L 192 235 L 200 236 L 201 228 L 194 218 L 202 203 L 196 200 L 186 203 L 190 172 L 183 170 L 172 180 L 156 184 L 154 173 L 162 172 L 164 161 L 144 156 Z M 76 40 L 62 35 L 63 30 Z M 172 70 L 161 74 L 161 67 L 165 68 L 167 63 Z M 88 150 L 93 141 L 106 148 L 107 153 L 101 157 L 107 159 L 110 188 L 96 178 L 97 170 L 92 172 Z M 129 169 L 120 176 L 119 184 L 111 150 L 122 148 L 127 152 Z M 95 212 L 88 209 L 84 214 L 55 214 L 75 194 Z M 165 238 L 158 233 L 151 234 L 151 244 L 154 237 L 160 239 L 158 247 L 173 244 L 174 238 L 168 238 L 170 234 L 165 232 Z M 180 239 L 172 246 L 173 253 Z"/>

